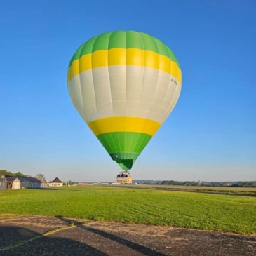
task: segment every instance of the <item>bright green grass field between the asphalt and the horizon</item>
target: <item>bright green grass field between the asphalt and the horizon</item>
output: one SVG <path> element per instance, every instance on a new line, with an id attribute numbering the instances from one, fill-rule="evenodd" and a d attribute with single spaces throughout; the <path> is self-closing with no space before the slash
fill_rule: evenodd
<path id="1" fill-rule="evenodd" d="M 256 234 L 256 197 L 126 187 L 0 191 L 6 213 Z"/>

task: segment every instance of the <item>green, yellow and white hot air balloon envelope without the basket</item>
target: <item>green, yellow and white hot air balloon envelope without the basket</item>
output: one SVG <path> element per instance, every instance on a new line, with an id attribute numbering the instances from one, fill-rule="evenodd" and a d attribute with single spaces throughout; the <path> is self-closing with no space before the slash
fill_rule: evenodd
<path id="1" fill-rule="evenodd" d="M 181 82 L 172 50 L 135 31 L 94 36 L 76 50 L 67 71 L 74 106 L 123 170 L 172 112 Z"/>

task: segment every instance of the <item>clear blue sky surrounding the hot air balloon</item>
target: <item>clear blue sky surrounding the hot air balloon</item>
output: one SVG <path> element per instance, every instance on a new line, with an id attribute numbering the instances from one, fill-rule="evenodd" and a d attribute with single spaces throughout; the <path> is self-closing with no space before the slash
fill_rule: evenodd
<path id="1" fill-rule="evenodd" d="M 256 180 L 256 1 L 7 1 L 0 9 L 0 169 L 114 181 L 119 166 L 74 109 L 67 65 L 103 32 L 135 30 L 182 67 L 173 113 L 134 179 Z"/>

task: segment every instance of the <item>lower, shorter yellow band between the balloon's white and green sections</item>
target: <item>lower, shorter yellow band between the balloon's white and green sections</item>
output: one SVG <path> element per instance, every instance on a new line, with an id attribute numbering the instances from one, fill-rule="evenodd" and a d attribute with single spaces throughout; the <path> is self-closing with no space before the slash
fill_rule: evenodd
<path id="1" fill-rule="evenodd" d="M 146 133 L 153 136 L 161 124 L 151 119 L 130 116 L 112 116 L 96 119 L 88 123 L 88 126 L 97 136 L 102 133 L 135 132 Z"/>

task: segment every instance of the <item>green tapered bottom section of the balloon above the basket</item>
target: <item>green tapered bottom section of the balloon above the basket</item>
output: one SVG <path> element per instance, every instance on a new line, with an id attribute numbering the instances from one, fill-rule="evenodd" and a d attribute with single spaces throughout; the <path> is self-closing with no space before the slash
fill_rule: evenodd
<path id="1" fill-rule="evenodd" d="M 145 133 L 133 132 L 103 133 L 97 136 L 111 158 L 119 163 L 123 170 L 132 168 L 151 137 Z"/>

